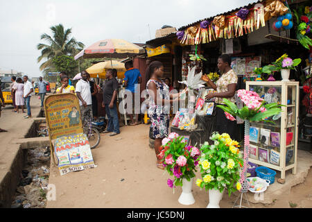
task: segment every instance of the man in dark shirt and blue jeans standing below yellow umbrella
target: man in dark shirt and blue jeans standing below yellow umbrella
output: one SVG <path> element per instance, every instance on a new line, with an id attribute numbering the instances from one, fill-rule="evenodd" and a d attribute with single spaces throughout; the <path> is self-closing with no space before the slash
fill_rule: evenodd
<path id="1" fill-rule="evenodd" d="M 104 133 L 111 133 L 110 136 L 112 137 L 120 133 L 117 113 L 118 81 L 114 78 L 112 69 L 106 71 L 106 78 L 107 81 L 103 86 L 102 107 L 105 108 L 108 124 Z"/>

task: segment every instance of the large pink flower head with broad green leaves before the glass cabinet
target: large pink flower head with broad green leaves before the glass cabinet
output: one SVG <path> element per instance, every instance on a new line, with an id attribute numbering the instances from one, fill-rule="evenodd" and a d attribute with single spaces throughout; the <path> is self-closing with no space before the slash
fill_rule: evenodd
<path id="1" fill-rule="evenodd" d="M 245 89 L 239 89 L 237 92 L 239 99 L 243 101 L 244 107 L 239 109 L 227 99 L 223 99 L 225 105 L 217 105 L 217 107 L 225 111 L 227 119 L 234 121 L 234 117 L 248 119 L 250 121 L 269 121 L 267 118 L 281 112 L 281 105 L 277 103 L 266 104 L 266 101 L 260 98 L 256 92 Z M 269 121 L 272 122 L 272 121 Z"/>

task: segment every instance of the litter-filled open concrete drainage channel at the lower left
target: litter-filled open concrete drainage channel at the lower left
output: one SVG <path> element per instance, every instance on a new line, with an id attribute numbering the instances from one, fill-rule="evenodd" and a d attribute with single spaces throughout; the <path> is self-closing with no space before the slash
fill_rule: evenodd
<path id="1" fill-rule="evenodd" d="M 44 117 L 43 110 L 38 117 Z M 18 139 L 19 151 L 0 182 L 0 207 L 46 207 L 51 152 L 45 118 L 33 119 L 24 138 Z"/>

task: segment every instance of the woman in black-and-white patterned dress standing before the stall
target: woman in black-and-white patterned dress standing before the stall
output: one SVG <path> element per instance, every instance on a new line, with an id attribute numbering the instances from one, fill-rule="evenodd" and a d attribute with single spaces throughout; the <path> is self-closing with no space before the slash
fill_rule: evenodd
<path id="1" fill-rule="evenodd" d="M 151 62 L 146 69 L 146 89 L 149 95 L 148 116 L 152 122 L 151 128 L 155 137 L 154 149 L 157 157 L 157 167 L 164 169 L 162 160 L 158 154 L 162 146 L 162 139 L 168 136 L 169 131 L 169 110 L 170 106 L 165 104 L 172 104 L 178 101 L 180 93 L 169 94 L 169 87 L 164 83 L 162 78 L 164 76 L 164 65 L 162 62 Z"/>

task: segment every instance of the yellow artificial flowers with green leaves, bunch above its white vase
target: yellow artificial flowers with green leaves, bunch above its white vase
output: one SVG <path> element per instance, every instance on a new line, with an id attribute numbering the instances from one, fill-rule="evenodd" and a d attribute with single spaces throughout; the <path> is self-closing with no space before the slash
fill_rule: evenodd
<path id="1" fill-rule="evenodd" d="M 214 144 L 205 142 L 200 148 L 202 154 L 198 163 L 202 179 L 198 179 L 196 185 L 220 192 L 227 188 L 230 196 L 241 189 L 239 171 L 243 160 L 239 153 L 239 142 L 232 140 L 227 133 L 213 133 L 210 139 Z"/>

